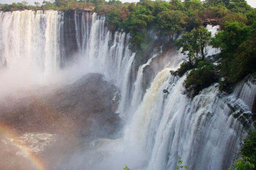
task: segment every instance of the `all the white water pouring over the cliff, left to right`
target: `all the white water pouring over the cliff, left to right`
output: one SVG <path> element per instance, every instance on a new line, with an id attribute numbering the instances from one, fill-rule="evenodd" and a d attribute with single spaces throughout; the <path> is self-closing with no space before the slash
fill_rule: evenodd
<path id="1" fill-rule="evenodd" d="M 115 170 L 127 164 L 133 170 L 169 170 L 175 169 L 178 155 L 189 169 L 215 170 L 231 166 L 233 151 L 246 137 L 245 130 L 252 127 L 252 120 L 245 115 L 252 114 L 255 84 L 251 81 L 238 84 L 234 94 L 223 96 L 214 84 L 189 100 L 181 94 L 186 76 L 178 79 L 170 73 L 176 70 L 175 64 L 154 74 L 144 94 L 143 70 L 150 66 L 157 52 L 139 67 L 135 78 L 135 53 L 129 50 L 129 33 L 109 32 L 105 16 L 96 13 L 75 12 L 74 19 L 79 61 L 88 66 L 78 74 L 89 71 L 104 74 L 120 88 L 121 116 L 130 115 L 122 138 L 99 139 L 99 145 L 91 147 L 99 157 L 94 157 L 95 153 L 74 156 L 88 162 L 82 164 L 82 169 Z M 63 21 L 63 13 L 58 11 L 1 12 L 0 66 L 6 64 L 7 70 L 29 66 L 21 74 L 32 72 L 43 76 L 31 77 L 47 78 L 64 65 Z M 213 32 L 216 27 L 207 28 Z M 216 53 L 210 51 L 209 48 L 208 55 Z M 176 63 L 180 63 L 184 56 L 177 58 Z M 34 72 L 34 67 L 40 71 Z M 2 79 L 5 81 L 7 77 Z M 168 94 L 163 94 L 163 89 L 167 89 Z M 242 125 L 244 122 L 246 126 Z M 66 167 L 81 169 L 80 165 Z"/>

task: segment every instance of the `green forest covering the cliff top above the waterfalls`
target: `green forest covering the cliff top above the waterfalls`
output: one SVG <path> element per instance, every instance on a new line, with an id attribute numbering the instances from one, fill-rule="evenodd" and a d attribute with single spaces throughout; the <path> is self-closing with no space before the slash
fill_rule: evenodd
<path id="1" fill-rule="evenodd" d="M 245 0 L 140 0 L 138 3 L 122 3 L 119 0 L 44 0 L 42 4 L 34 4 L 27 5 L 26 1 L 2 4 L 0 10 L 53 9 L 64 11 L 65 14 L 69 10 L 86 10 L 105 15 L 110 31 L 132 33 L 130 48 L 137 52 L 138 65 L 154 44 L 154 38 L 149 36 L 150 30 L 156 31 L 158 36 L 169 37 L 171 42 L 174 33 L 185 27 L 195 27 L 175 42 L 177 50 L 182 48 L 181 53 L 187 55 L 187 60 L 174 74 L 182 76 L 191 70 L 183 83 L 182 92 L 188 98 L 195 97 L 214 82 L 219 82 L 220 91 L 229 93 L 232 84 L 240 82 L 245 76 L 250 75 L 251 79 L 256 76 L 256 9 Z M 220 25 L 214 37 L 203 26 L 208 21 Z M 218 64 L 205 60 L 207 46 L 220 49 Z M 255 134 L 253 136 L 255 138 Z M 245 156 L 242 163 L 250 158 L 251 162 L 256 163 L 255 155 L 246 156 L 245 151 L 242 152 Z M 238 164 L 234 166 L 238 167 Z"/>

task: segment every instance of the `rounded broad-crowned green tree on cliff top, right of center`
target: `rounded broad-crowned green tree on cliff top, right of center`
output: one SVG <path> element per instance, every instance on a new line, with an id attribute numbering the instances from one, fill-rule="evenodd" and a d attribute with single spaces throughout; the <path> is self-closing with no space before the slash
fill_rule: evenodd
<path id="1" fill-rule="evenodd" d="M 176 31 L 181 31 L 185 14 L 181 11 L 162 11 L 158 13 L 156 20 L 156 27 L 162 35 L 169 35 L 169 39 Z"/>

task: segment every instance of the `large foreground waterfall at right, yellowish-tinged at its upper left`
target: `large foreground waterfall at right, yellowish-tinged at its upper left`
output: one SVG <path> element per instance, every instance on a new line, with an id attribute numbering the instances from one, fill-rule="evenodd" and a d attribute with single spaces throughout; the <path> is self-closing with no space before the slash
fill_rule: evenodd
<path id="1" fill-rule="evenodd" d="M 234 116 L 240 109 L 234 111 L 229 106 L 235 94 L 219 98 L 214 84 L 194 99 L 187 99 L 181 94 L 186 75 L 177 79 L 170 70 L 166 68 L 155 77 L 126 126 L 123 139 L 102 141 L 98 150 L 111 154 L 95 166 L 96 169 L 120 169 L 119 163 L 107 165 L 120 155 L 121 161 L 136 170 L 175 169 L 178 155 L 189 169 L 215 170 L 231 166 L 233 151 L 247 135 L 245 127 Z M 169 94 L 163 94 L 163 89 Z M 236 102 L 244 106 L 245 112 L 250 112 L 242 100 Z M 114 145 L 114 149 L 113 146 L 108 149 L 109 145 Z"/>

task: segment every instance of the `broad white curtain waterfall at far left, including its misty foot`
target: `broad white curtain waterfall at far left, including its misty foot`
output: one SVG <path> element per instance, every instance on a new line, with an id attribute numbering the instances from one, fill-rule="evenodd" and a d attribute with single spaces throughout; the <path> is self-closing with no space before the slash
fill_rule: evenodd
<path id="1" fill-rule="evenodd" d="M 1 97 L 18 85 L 44 84 L 63 66 L 63 13 L 0 12 Z"/>

